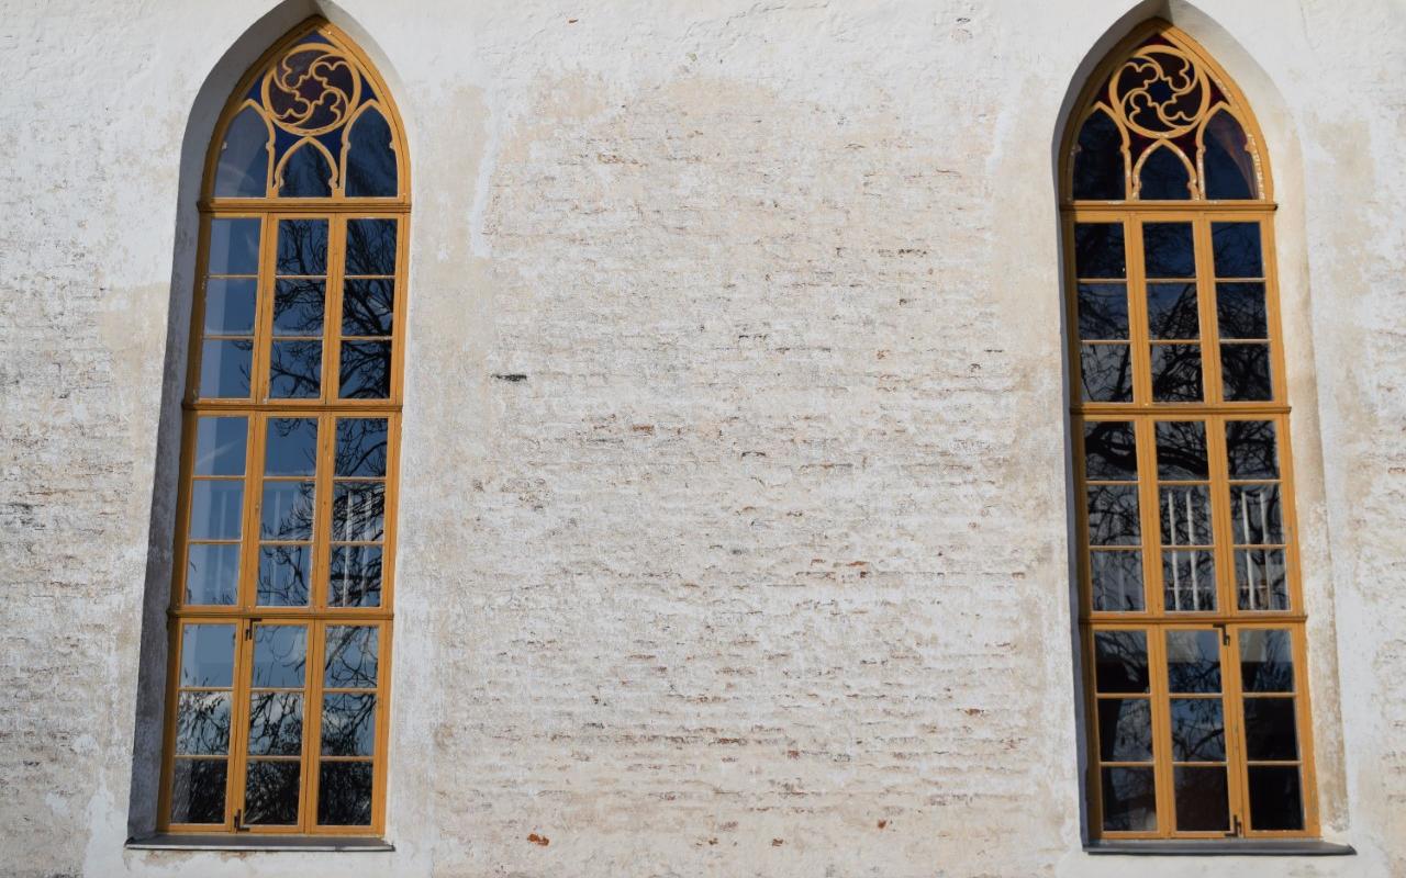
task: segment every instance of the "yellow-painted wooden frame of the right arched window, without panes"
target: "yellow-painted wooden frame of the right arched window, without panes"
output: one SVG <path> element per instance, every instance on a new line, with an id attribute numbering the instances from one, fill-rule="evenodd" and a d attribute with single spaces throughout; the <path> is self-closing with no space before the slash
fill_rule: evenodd
<path id="1" fill-rule="evenodd" d="M 1073 197 L 1074 155 L 1078 148 L 1078 133 L 1085 119 L 1097 111 L 1104 111 L 1111 118 L 1105 103 L 1104 84 L 1109 81 L 1115 69 L 1125 63 L 1130 52 L 1147 44 L 1149 39 L 1159 39 L 1180 52 L 1192 58 L 1215 83 L 1222 94 L 1222 103 L 1204 110 L 1204 117 L 1209 118 L 1219 110 L 1227 111 L 1243 128 L 1247 152 L 1253 159 L 1256 176 L 1256 198 L 1237 201 L 1219 201 L 1205 198 L 1205 167 L 1198 152 L 1195 167 L 1192 169 L 1191 187 L 1194 197 L 1185 201 L 1139 201 L 1137 174 L 1140 167 L 1154 149 L 1164 143 L 1154 142 L 1139 156 L 1129 152 L 1129 133 L 1119 126 L 1122 133 L 1122 156 L 1125 173 L 1125 199 L 1091 201 L 1076 199 Z M 1111 89 L 1109 89 L 1111 91 Z M 1197 135 L 1198 146 L 1202 142 L 1205 129 Z M 1095 69 L 1083 94 L 1076 104 L 1076 112 L 1064 132 L 1062 143 L 1060 169 L 1060 214 L 1062 214 L 1062 247 L 1064 260 L 1064 306 L 1066 326 L 1069 326 L 1067 357 L 1070 362 L 1070 414 L 1073 435 L 1073 458 L 1076 478 L 1076 534 L 1078 548 L 1078 621 L 1080 621 L 1080 655 L 1081 676 L 1084 687 L 1084 711 L 1087 721 L 1088 745 L 1088 773 L 1087 792 L 1090 804 L 1090 839 L 1094 841 L 1125 841 L 1125 840 L 1182 840 L 1182 839 L 1316 839 L 1320 833 L 1319 806 L 1315 782 L 1312 711 L 1309 705 L 1308 687 L 1308 646 L 1305 631 L 1305 611 L 1302 594 L 1301 565 L 1298 559 L 1298 523 L 1295 518 L 1295 490 L 1294 490 L 1294 455 L 1289 445 L 1289 405 L 1285 382 L 1285 354 L 1281 330 L 1281 309 L 1277 278 L 1277 257 L 1274 249 L 1274 215 L 1275 202 L 1272 198 L 1272 181 L 1267 157 L 1263 155 L 1264 139 L 1256 124 L 1254 115 L 1249 110 L 1243 94 L 1234 81 L 1216 65 L 1201 46 L 1187 34 L 1161 20 L 1152 20 L 1135 28 L 1123 41 L 1115 46 L 1108 58 Z M 1177 150 L 1185 160 L 1185 155 Z M 1149 325 L 1146 313 L 1146 277 L 1143 273 L 1142 225 L 1144 222 L 1189 222 L 1194 229 L 1195 258 L 1197 258 L 1197 295 L 1199 316 L 1201 369 L 1202 369 L 1202 402 L 1153 402 L 1152 393 L 1152 365 Z M 1128 295 L 1128 344 L 1132 354 L 1132 402 L 1083 402 L 1081 357 L 1080 357 L 1080 322 L 1078 322 L 1078 281 L 1074 261 L 1074 226 L 1084 222 L 1121 223 L 1123 228 L 1123 247 L 1126 258 L 1125 278 Z M 1216 315 L 1216 275 L 1212 260 L 1211 223 L 1212 222 L 1256 222 L 1260 226 L 1260 242 L 1265 288 L 1265 319 L 1270 346 L 1271 371 L 1271 399 L 1264 402 L 1226 402 L 1223 398 L 1223 376 L 1220 369 L 1220 337 Z M 1097 611 L 1092 604 L 1092 579 L 1090 568 L 1090 531 L 1088 510 L 1085 502 L 1085 485 L 1090 482 L 1085 475 L 1084 457 L 1084 424 L 1099 420 L 1130 421 L 1136 431 L 1136 468 L 1137 468 L 1137 497 L 1140 541 L 1136 544 L 1142 552 L 1143 569 L 1143 610 L 1140 611 Z M 1167 611 L 1163 607 L 1163 561 L 1161 561 L 1161 530 L 1159 509 L 1159 479 L 1156 461 L 1156 441 L 1153 435 L 1154 424 L 1163 420 L 1195 420 L 1204 421 L 1206 430 L 1209 457 L 1209 493 L 1212 510 L 1212 532 L 1216 572 L 1216 611 Z M 1234 537 L 1230 532 L 1230 485 L 1232 479 L 1226 472 L 1225 430 L 1222 424 L 1229 420 L 1264 420 L 1275 426 L 1278 450 L 1278 483 L 1279 503 L 1284 528 L 1284 559 L 1285 580 L 1288 589 L 1286 610 L 1239 610 L 1236 594 L 1234 569 Z M 1268 479 L 1267 479 L 1268 480 Z M 1132 546 L 1130 546 L 1132 548 Z M 1229 787 L 1229 809 L 1232 816 L 1230 832 L 1177 832 L 1175 806 L 1173 798 L 1173 759 L 1171 759 L 1171 726 L 1168 718 L 1167 667 L 1164 660 L 1164 632 L 1174 629 L 1215 629 L 1222 638 L 1220 677 L 1223 716 L 1223 742 L 1226 781 Z M 1294 662 L 1294 716 L 1296 721 L 1298 760 L 1292 764 L 1299 767 L 1301 806 L 1303 811 L 1303 827 L 1301 830 L 1256 830 L 1250 820 L 1249 805 L 1249 760 L 1244 753 L 1244 716 L 1243 697 L 1240 691 L 1237 636 L 1240 631 L 1257 628 L 1286 629 L 1291 635 Z M 1099 631 L 1143 631 L 1147 642 L 1147 663 L 1150 673 L 1149 691 L 1144 695 L 1150 701 L 1152 709 L 1152 753 L 1156 777 L 1156 830 L 1144 832 L 1115 832 L 1102 829 L 1102 778 L 1101 767 L 1111 764 L 1101 761 L 1098 702 L 1102 693 L 1095 688 L 1095 655 L 1094 634 Z M 1118 697 L 1114 694 L 1112 697 Z M 1126 695 L 1125 695 L 1126 697 Z M 1137 695 L 1132 695 L 1137 697 Z M 1181 697 L 1181 695 L 1177 695 Z M 1256 697 L 1256 695 L 1250 695 Z M 1115 767 L 1118 763 L 1112 763 Z"/>

